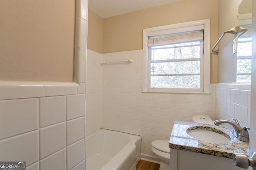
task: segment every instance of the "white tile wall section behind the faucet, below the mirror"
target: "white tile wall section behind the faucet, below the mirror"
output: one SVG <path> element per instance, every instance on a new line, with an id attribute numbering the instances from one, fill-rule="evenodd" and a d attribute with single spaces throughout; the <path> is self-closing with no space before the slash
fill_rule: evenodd
<path id="1" fill-rule="evenodd" d="M 216 84 L 216 115 L 219 119 L 238 119 L 250 126 L 250 84 Z"/>

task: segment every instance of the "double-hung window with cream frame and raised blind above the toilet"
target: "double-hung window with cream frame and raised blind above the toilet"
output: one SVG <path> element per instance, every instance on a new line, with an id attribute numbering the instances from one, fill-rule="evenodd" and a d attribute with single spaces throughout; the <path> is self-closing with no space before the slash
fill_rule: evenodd
<path id="1" fill-rule="evenodd" d="M 209 92 L 209 20 L 144 29 L 148 92 Z"/>

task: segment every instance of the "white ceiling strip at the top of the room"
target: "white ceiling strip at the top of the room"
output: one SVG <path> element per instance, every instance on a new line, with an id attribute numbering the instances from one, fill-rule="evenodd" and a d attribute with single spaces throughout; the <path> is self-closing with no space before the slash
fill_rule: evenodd
<path id="1" fill-rule="evenodd" d="M 89 8 L 100 18 L 109 18 L 182 0 L 89 0 Z"/>

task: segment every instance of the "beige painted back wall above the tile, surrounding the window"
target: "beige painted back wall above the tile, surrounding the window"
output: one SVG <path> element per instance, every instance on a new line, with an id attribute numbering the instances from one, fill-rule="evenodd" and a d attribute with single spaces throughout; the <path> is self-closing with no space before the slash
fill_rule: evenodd
<path id="1" fill-rule="evenodd" d="M 142 49 L 144 28 L 210 18 L 210 47 L 218 39 L 218 1 L 184 0 L 103 19 L 103 53 Z M 217 83 L 216 55 L 211 56 L 211 83 Z"/>

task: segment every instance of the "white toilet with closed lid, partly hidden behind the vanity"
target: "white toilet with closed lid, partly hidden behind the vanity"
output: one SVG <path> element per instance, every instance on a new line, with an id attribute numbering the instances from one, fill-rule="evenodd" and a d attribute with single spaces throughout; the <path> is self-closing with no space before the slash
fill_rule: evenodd
<path id="1" fill-rule="evenodd" d="M 212 119 L 208 115 L 194 115 L 192 120 L 197 123 L 214 124 Z M 151 143 L 151 150 L 160 159 L 159 170 L 170 169 L 170 148 L 169 140 L 156 140 Z"/>

